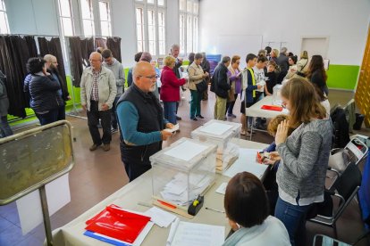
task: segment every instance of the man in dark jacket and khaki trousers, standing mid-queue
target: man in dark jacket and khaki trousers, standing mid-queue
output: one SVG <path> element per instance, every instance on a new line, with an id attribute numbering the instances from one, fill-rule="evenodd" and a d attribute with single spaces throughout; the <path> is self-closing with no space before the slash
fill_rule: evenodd
<path id="1" fill-rule="evenodd" d="M 214 119 L 223 120 L 225 118 L 227 94 L 231 88 L 227 77 L 230 61 L 229 56 L 224 56 L 223 61 L 214 69 L 214 93 L 216 94 Z"/>

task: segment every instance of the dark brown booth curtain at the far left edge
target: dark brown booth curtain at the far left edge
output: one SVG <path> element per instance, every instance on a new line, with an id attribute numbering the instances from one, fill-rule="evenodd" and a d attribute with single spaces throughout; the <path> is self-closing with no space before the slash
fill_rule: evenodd
<path id="1" fill-rule="evenodd" d="M 9 114 L 26 117 L 24 110 L 28 106 L 23 93 L 23 79 L 27 74 L 26 63 L 29 60 L 29 43 L 18 36 L 0 36 L 0 70 L 6 76 L 6 90 L 9 98 Z"/>

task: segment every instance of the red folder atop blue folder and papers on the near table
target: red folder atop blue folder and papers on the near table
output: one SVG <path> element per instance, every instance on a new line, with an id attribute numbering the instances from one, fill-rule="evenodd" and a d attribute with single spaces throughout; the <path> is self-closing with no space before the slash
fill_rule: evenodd
<path id="1" fill-rule="evenodd" d="M 150 217 L 114 204 L 86 221 L 84 234 L 114 245 L 140 245 L 154 225 Z"/>

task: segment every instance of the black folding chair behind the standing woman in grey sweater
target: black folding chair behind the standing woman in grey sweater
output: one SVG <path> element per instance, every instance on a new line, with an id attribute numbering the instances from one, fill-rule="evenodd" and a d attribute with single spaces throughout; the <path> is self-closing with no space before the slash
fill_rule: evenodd
<path id="1" fill-rule="evenodd" d="M 352 201 L 352 199 L 356 196 L 357 191 L 359 189 L 359 186 L 361 184 L 361 172 L 357 168 L 357 165 L 355 163 L 349 163 L 348 167 L 344 170 L 341 176 L 339 176 L 335 181 L 334 184 L 332 184 L 331 190 L 325 190 L 325 195 L 327 196 L 330 194 L 330 199 L 339 199 L 339 205 L 338 208 L 332 209 L 332 216 L 323 216 L 320 214 L 321 210 L 325 210 L 325 208 L 319 208 L 318 214 L 316 217 L 309 219 L 309 221 L 318 223 L 321 225 L 328 225 L 331 226 L 334 229 L 335 238 L 337 237 L 337 228 L 336 228 L 336 222 L 341 217 L 341 214 L 343 211 L 347 208 L 349 205 L 349 202 Z M 325 201 L 328 201 L 326 199 Z M 320 205 L 325 204 L 323 202 L 322 204 L 317 204 L 318 207 Z M 326 202 L 326 206 L 333 206 L 334 202 Z M 333 206 L 336 207 L 336 206 Z"/>

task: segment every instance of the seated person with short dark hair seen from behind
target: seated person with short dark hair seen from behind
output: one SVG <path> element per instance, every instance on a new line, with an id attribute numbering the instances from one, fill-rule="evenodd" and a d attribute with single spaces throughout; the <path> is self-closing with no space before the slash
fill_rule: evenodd
<path id="1" fill-rule="evenodd" d="M 233 176 L 223 204 L 233 231 L 223 246 L 290 245 L 285 226 L 269 216 L 265 188 L 253 174 L 242 172 Z"/>

